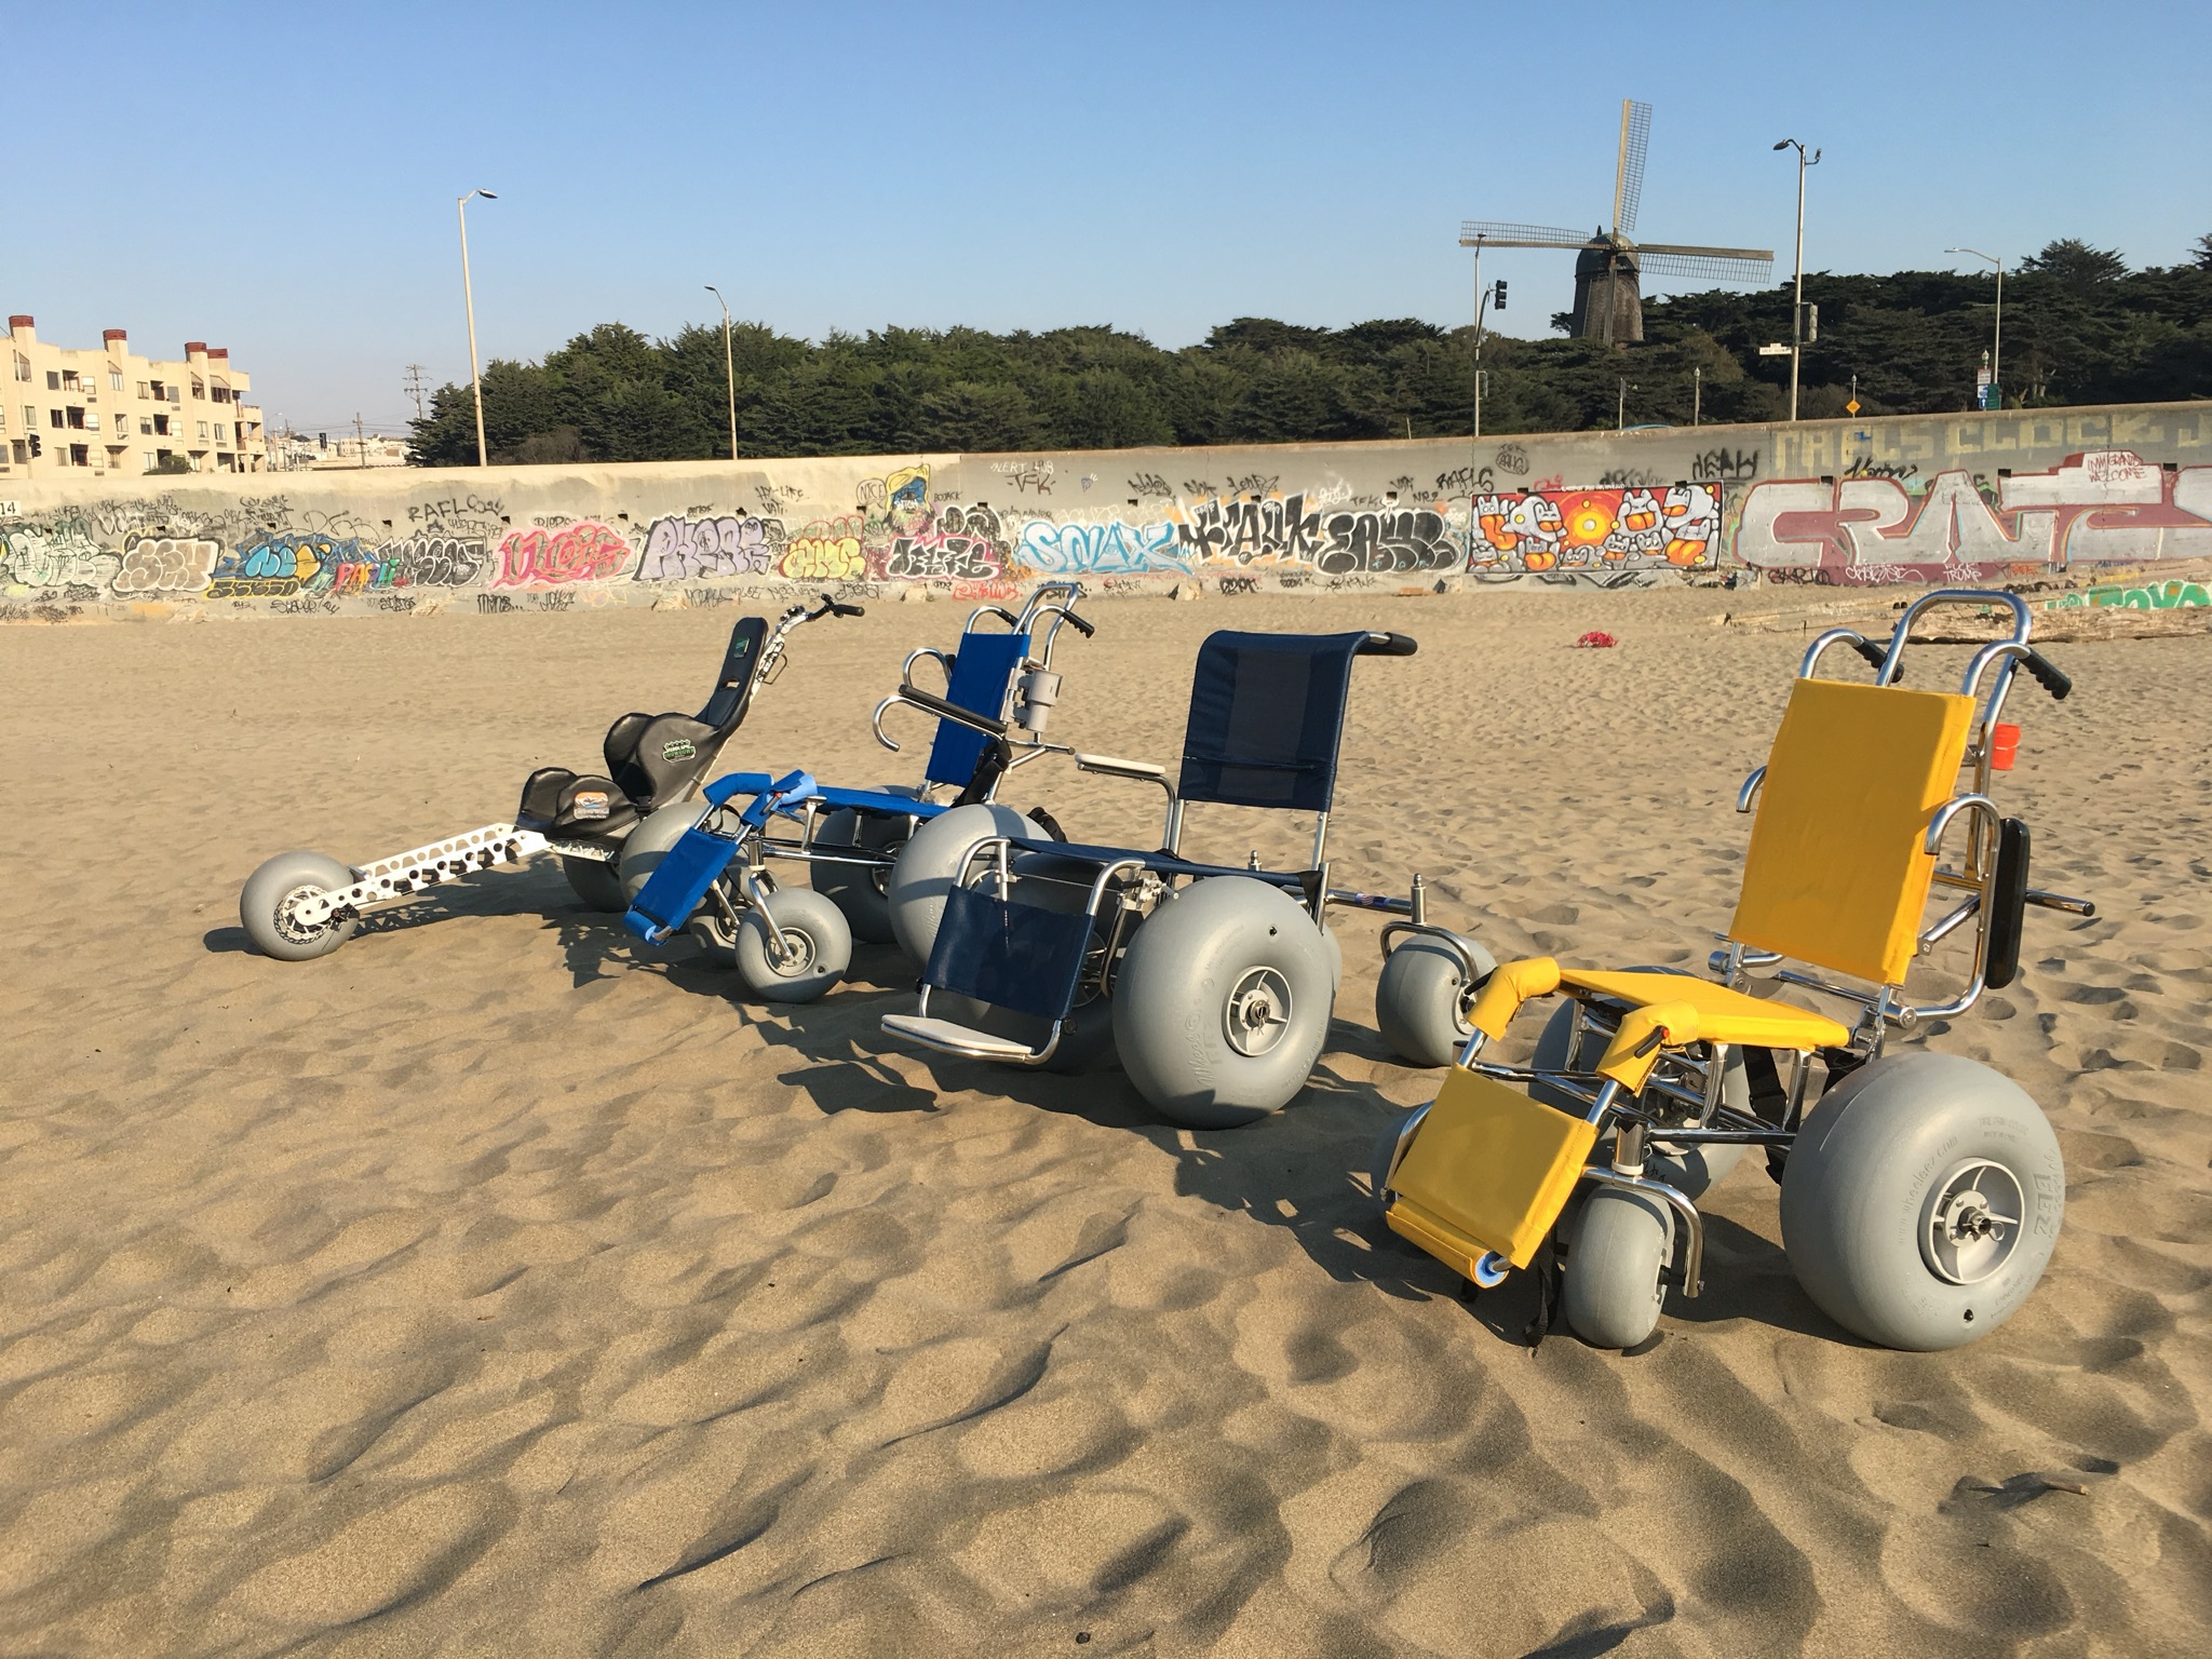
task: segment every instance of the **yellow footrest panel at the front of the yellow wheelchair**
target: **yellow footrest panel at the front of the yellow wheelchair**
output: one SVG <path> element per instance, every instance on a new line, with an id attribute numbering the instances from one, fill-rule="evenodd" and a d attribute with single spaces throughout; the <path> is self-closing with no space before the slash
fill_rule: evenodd
<path id="1" fill-rule="evenodd" d="M 1595 1144 L 1595 1124 L 1453 1066 L 1391 1175 L 1385 1219 L 1469 1279 L 1493 1250 L 1526 1267 Z"/>

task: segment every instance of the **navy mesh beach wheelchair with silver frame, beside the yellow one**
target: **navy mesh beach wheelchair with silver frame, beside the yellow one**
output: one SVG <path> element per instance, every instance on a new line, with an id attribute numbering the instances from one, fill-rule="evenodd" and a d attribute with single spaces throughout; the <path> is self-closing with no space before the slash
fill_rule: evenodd
<path id="1" fill-rule="evenodd" d="M 1075 754 L 1168 794 L 1161 847 L 1135 852 L 987 827 L 927 872 L 936 905 L 920 1002 L 891 1037 L 1015 1066 L 1119 1055 L 1190 1128 L 1279 1110 L 1321 1057 L 1340 978 L 1332 905 L 1411 900 L 1329 887 L 1327 836 L 1356 657 L 1409 657 L 1398 633 L 1214 633 L 1199 648 L 1181 772 Z M 1314 814 L 1303 869 L 1183 858 L 1194 803 Z M 916 838 L 911 852 L 920 852 Z M 945 872 L 940 876 L 940 872 Z M 894 891 L 914 889 L 907 860 Z"/>

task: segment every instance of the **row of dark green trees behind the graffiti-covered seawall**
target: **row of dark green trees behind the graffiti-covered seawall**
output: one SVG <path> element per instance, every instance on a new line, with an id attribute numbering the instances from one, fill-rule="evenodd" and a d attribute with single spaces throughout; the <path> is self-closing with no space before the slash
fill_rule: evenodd
<path id="1" fill-rule="evenodd" d="M 1971 407 L 1991 345 L 1993 274 L 1805 279 L 1820 307 L 1801 414 Z M 1553 327 L 1564 330 L 1555 316 Z M 1650 301 L 1646 338 L 1489 334 L 1482 429 L 1582 431 L 1787 414 L 1790 288 Z M 1413 319 L 1343 330 L 1237 319 L 1164 352 L 1115 327 L 987 334 L 971 327 L 832 334 L 821 345 L 745 323 L 734 334 L 745 456 L 1121 449 L 1130 445 L 1438 438 L 1471 429 L 1475 332 Z M 2128 270 L 2055 241 L 2004 283 L 2004 400 L 2017 407 L 2212 398 L 2212 234 L 2190 263 Z M 484 369 L 493 462 L 688 460 L 730 447 L 721 330 L 648 341 L 622 323 L 542 363 Z M 416 465 L 476 460 L 469 387 L 438 389 L 414 422 Z"/>

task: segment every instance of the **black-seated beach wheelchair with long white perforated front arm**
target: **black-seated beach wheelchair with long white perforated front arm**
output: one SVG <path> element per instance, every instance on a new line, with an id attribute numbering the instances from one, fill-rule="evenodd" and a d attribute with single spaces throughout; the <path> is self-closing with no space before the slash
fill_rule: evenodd
<path id="1" fill-rule="evenodd" d="M 832 606 L 827 597 L 823 604 L 838 615 L 860 615 L 858 606 Z M 763 617 L 739 619 L 714 692 L 697 714 L 624 714 L 606 728 L 604 774 L 538 768 L 524 779 L 522 803 L 509 823 L 487 823 L 367 865 L 341 865 L 319 852 L 276 854 L 239 894 L 246 938 L 281 962 L 330 956 L 358 931 L 363 916 L 405 905 L 440 883 L 522 867 L 542 854 L 560 860 L 591 909 L 619 914 L 626 905 L 617 876 L 624 843 L 655 810 L 697 792 L 745 721 L 752 692 L 781 664 L 783 637 L 801 619 L 805 606 L 785 611 L 774 630 Z"/>

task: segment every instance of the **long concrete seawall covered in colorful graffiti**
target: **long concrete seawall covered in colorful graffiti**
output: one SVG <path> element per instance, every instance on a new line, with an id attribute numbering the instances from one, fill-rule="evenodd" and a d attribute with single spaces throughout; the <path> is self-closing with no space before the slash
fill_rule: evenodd
<path id="1" fill-rule="evenodd" d="M 0 484 L 0 619 L 721 604 L 799 586 L 2037 582 L 2212 557 L 2212 405 L 1020 456 Z"/>

